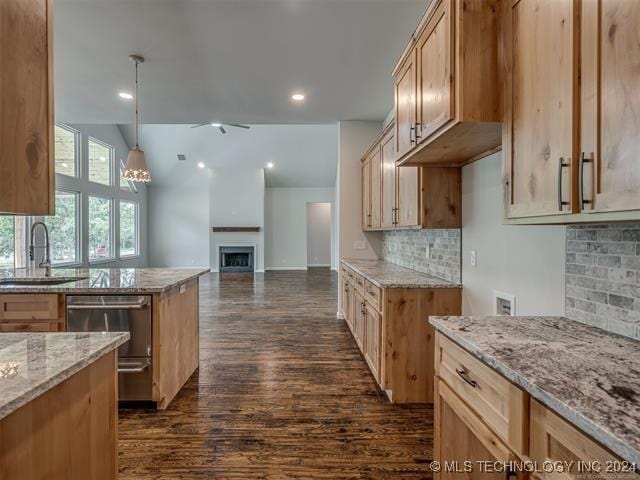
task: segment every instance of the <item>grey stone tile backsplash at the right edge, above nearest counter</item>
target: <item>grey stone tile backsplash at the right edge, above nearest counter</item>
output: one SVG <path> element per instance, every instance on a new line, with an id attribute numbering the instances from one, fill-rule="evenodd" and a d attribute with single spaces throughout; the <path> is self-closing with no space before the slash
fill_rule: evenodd
<path id="1" fill-rule="evenodd" d="M 567 227 L 566 315 L 640 340 L 640 222 Z"/>

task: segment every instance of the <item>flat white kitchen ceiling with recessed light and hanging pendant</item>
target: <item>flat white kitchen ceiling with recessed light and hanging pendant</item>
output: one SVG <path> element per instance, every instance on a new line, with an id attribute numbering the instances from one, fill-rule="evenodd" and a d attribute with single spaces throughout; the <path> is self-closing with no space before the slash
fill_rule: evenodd
<path id="1" fill-rule="evenodd" d="M 140 67 L 144 123 L 381 120 L 391 70 L 426 0 L 56 0 L 57 120 L 132 121 L 117 98 Z M 294 90 L 307 101 L 294 105 Z M 216 137 L 217 138 L 217 137 Z"/>

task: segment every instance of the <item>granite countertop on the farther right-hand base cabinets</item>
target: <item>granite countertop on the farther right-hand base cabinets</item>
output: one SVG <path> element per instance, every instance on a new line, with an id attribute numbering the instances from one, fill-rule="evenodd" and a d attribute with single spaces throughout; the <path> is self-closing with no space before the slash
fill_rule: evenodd
<path id="1" fill-rule="evenodd" d="M 347 267 L 380 288 L 462 288 L 462 285 L 384 260 L 342 260 Z"/>

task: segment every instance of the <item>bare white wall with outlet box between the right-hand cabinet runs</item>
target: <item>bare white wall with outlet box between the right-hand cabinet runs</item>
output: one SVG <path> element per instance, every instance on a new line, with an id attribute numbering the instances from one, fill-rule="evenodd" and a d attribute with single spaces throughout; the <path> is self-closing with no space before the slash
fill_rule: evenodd
<path id="1" fill-rule="evenodd" d="M 502 225 L 500 180 L 500 153 L 462 169 L 463 314 L 493 314 L 495 289 L 516 296 L 517 315 L 563 315 L 566 228 Z"/>

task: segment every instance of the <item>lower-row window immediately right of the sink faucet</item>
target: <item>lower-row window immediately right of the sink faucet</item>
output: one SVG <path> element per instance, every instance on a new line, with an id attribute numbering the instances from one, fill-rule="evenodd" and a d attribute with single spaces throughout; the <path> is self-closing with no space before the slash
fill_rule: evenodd
<path id="1" fill-rule="evenodd" d="M 56 192 L 56 215 L 45 217 L 51 242 L 53 264 L 80 263 L 78 193 Z"/>

